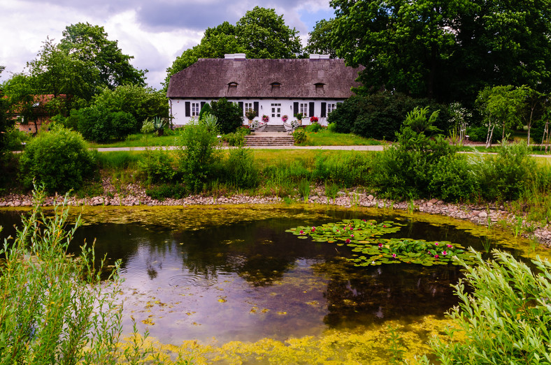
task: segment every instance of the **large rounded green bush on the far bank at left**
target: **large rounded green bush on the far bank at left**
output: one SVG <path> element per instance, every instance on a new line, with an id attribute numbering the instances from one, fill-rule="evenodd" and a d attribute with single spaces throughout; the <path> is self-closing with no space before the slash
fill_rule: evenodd
<path id="1" fill-rule="evenodd" d="M 40 133 L 24 149 L 20 172 L 25 187 L 33 181 L 43 184 L 50 193 L 78 189 L 94 174 L 94 154 L 88 151 L 80 133 L 55 128 Z"/>

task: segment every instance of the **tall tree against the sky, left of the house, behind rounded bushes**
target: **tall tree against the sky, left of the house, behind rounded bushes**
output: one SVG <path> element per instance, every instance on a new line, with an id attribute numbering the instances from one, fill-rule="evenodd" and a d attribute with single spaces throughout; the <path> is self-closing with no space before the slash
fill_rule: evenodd
<path id="1" fill-rule="evenodd" d="M 115 89 L 122 84 L 145 86 L 147 70 L 138 70 L 130 64 L 134 57 L 123 54 L 117 40 L 108 40 L 108 34 L 98 25 L 89 23 L 71 24 L 63 31 L 59 50 L 72 55 L 81 62 L 83 78 L 94 91 L 104 87 Z M 88 91 L 82 97 L 92 99 Z"/>

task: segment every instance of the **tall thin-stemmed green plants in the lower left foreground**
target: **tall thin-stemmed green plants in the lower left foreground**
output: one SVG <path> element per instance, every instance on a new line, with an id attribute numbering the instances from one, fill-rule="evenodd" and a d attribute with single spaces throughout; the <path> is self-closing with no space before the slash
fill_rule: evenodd
<path id="1" fill-rule="evenodd" d="M 47 217 L 43 192 L 34 198 L 15 239 L 0 249 L 0 363 L 114 364 L 122 331 L 120 262 L 101 281 L 105 265 L 94 262 L 93 248 L 85 244 L 78 259 L 67 255 L 80 220 L 66 228 L 65 205 Z"/>

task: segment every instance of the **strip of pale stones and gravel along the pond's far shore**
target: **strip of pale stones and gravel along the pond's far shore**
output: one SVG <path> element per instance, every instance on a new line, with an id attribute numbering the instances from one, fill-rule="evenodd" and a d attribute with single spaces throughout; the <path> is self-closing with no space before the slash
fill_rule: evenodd
<path id="1" fill-rule="evenodd" d="M 69 197 L 68 204 L 72 206 L 99 206 L 99 205 L 115 205 L 131 207 L 134 205 L 148 206 L 186 206 L 186 205 L 217 205 L 217 204 L 275 204 L 283 202 L 282 198 L 277 196 L 249 196 L 249 195 L 231 195 L 231 196 L 203 196 L 190 195 L 182 199 L 168 198 L 163 201 L 152 199 L 145 193 L 145 188 L 137 184 L 128 184 L 122 189 L 122 193 L 117 193 L 115 186 L 111 184 L 109 179 L 103 179 L 103 195 L 92 198 L 76 198 Z M 295 197 L 297 200 L 299 197 Z M 62 202 L 64 195 L 49 196 L 45 199 L 44 205 L 50 206 L 55 202 Z M 300 200 L 303 200 L 300 198 Z M 324 188 L 319 186 L 310 192 L 308 203 L 310 204 L 328 204 L 328 198 L 324 195 Z M 392 209 L 410 209 L 409 202 L 392 202 L 376 198 L 369 193 L 361 193 L 357 191 L 339 191 L 336 198 L 329 198 L 329 204 L 341 207 L 381 207 Z M 441 200 L 415 200 L 413 202 L 416 211 L 422 211 L 428 214 L 440 214 L 460 220 L 468 220 L 477 225 L 488 225 L 499 221 L 506 221 L 509 225 L 517 221 L 515 215 L 510 214 L 500 207 L 477 206 L 475 204 L 449 204 Z M 8 194 L 0 197 L 0 207 L 30 207 L 32 205 L 32 195 L 26 194 Z M 523 226 L 526 226 L 524 221 Z M 532 232 L 523 234 L 524 237 L 534 238 L 544 246 L 551 247 L 551 227 L 549 224 L 545 226 L 536 226 L 532 223 Z"/>

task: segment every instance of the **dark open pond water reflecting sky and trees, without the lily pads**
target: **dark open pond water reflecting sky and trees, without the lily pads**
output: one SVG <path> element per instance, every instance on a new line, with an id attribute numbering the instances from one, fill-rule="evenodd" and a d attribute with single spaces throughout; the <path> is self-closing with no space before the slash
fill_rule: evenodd
<path id="1" fill-rule="evenodd" d="M 158 215 L 167 211 L 170 223 L 163 224 Z M 199 216 L 194 209 L 167 208 L 124 220 L 123 211 L 112 210 L 124 223 L 83 226 L 73 250 L 95 237 L 96 257 L 122 260 L 124 328 L 131 329 L 135 318 L 139 329 L 149 325 L 150 334 L 162 342 L 180 343 L 213 337 L 221 342 L 282 340 L 328 328 L 354 330 L 386 320 L 442 315 L 457 303 L 450 288 L 460 276 L 456 266 L 354 267 L 345 260 L 351 255 L 345 246 L 285 232 L 296 225 L 394 219 L 405 226 L 392 237 L 448 240 L 481 249 L 479 237 L 452 225 L 373 216 L 369 210 L 270 207 L 246 214 L 240 207 L 230 221 L 231 213 L 211 209 Z M 156 218 L 148 219 L 148 214 Z M 200 225 L 191 224 L 194 216 Z M 16 221 L 15 214 L 0 214 L 4 226 Z"/>

